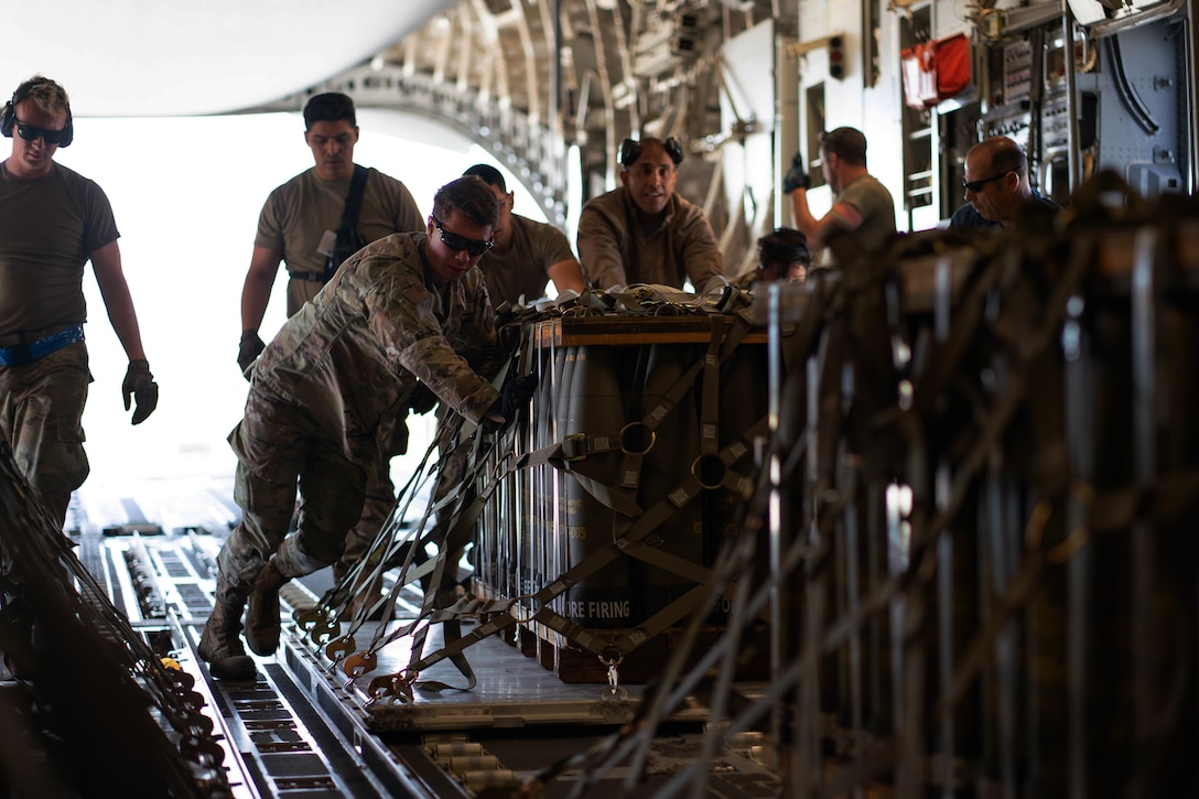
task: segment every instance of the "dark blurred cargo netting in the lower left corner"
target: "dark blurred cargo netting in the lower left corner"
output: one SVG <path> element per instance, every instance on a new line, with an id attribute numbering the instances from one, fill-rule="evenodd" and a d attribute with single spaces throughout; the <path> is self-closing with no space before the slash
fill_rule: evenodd
<path id="1" fill-rule="evenodd" d="M 50 518 L 0 437 L 0 793 L 228 797 L 194 678 L 156 654 Z"/>

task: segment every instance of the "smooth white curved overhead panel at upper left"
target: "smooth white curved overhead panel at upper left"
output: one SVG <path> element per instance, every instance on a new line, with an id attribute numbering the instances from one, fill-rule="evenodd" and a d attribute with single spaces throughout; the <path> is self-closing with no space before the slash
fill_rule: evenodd
<path id="1" fill-rule="evenodd" d="M 5 4 L 0 91 L 42 73 L 80 116 L 231 112 L 361 64 L 454 2 L 58 0 L 53 14 Z"/>

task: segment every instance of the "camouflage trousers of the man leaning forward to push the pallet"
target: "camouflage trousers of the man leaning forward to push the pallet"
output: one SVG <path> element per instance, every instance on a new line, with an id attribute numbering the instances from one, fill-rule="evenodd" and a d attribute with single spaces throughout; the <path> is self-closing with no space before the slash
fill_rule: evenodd
<path id="1" fill-rule="evenodd" d="M 234 500 L 242 518 L 217 555 L 221 601 L 245 599 L 275 555 L 284 577 L 312 573 L 337 560 L 362 516 L 367 474 L 341 441 L 321 435 L 299 408 L 251 390 L 246 416 L 229 434 L 237 455 Z M 296 533 L 288 535 L 301 495 Z"/>

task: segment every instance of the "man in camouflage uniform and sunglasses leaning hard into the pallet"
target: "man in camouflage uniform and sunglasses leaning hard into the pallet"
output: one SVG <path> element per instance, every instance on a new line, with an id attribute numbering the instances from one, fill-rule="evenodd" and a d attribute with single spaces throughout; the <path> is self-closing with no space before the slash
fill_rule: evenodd
<path id="1" fill-rule="evenodd" d="M 442 186 L 421 233 L 368 245 L 288 319 L 251 374 L 246 414 L 229 441 L 242 521 L 217 557 L 217 603 L 200 656 L 222 679 L 247 679 L 278 647 L 279 588 L 337 560 L 362 513 L 376 429 L 404 425 L 417 382 L 471 422 L 502 422 L 528 403 L 536 379 L 502 392 L 495 320 L 478 259 L 499 209 L 475 176 Z M 299 525 L 288 535 L 296 487 Z"/>

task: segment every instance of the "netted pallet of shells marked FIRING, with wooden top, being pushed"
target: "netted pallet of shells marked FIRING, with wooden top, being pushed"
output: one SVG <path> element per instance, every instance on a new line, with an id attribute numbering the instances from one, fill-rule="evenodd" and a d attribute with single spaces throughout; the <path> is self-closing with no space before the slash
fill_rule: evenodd
<path id="1" fill-rule="evenodd" d="M 464 650 L 516 626 L 586 653 L 605 698 L 623 701 L 625 659 L 713 601 L 711 563 L 752 493 L 749 443 L 766 431 L 765 338 L 759 331 L 755 352 L 741 347 L 752 329 L 747 295 L 633 286 L 566 306 L 508 308 L 501 322 L 512 353 L 505 372 L 538 379 L 529 407 L 500 428 L 444 416 L 368 554 L 318 607 L 295 613 L 351 679 L 374 671 L 388 643 L 410 639 L 411 662 L 372 679 L 372 701 L 411 702 L 417 684 L 451 687 L 418 681 L 446 659 L 465 678 L 456 687 L 474 687 Z M 570 343 L 595 338 L 615 343 Z M 722 419 L 722 402 L 740 413 Z M 412 499 L 430 483 L 433 500 L 408 524 Z M 454 573 L 468 546 L 474 591 L 463 595 Z M 378 593 L 386 570 L 398 571 L 386 597 L 348 613 L 355 597 Z M 415 618 L 375 626 L 361 647 L 366 621 L 391 620 L 416 581 Z M 463 635 L 465 618 L 482 624 Z M 435 624 L 446 645 L 422 656 Z"/>

